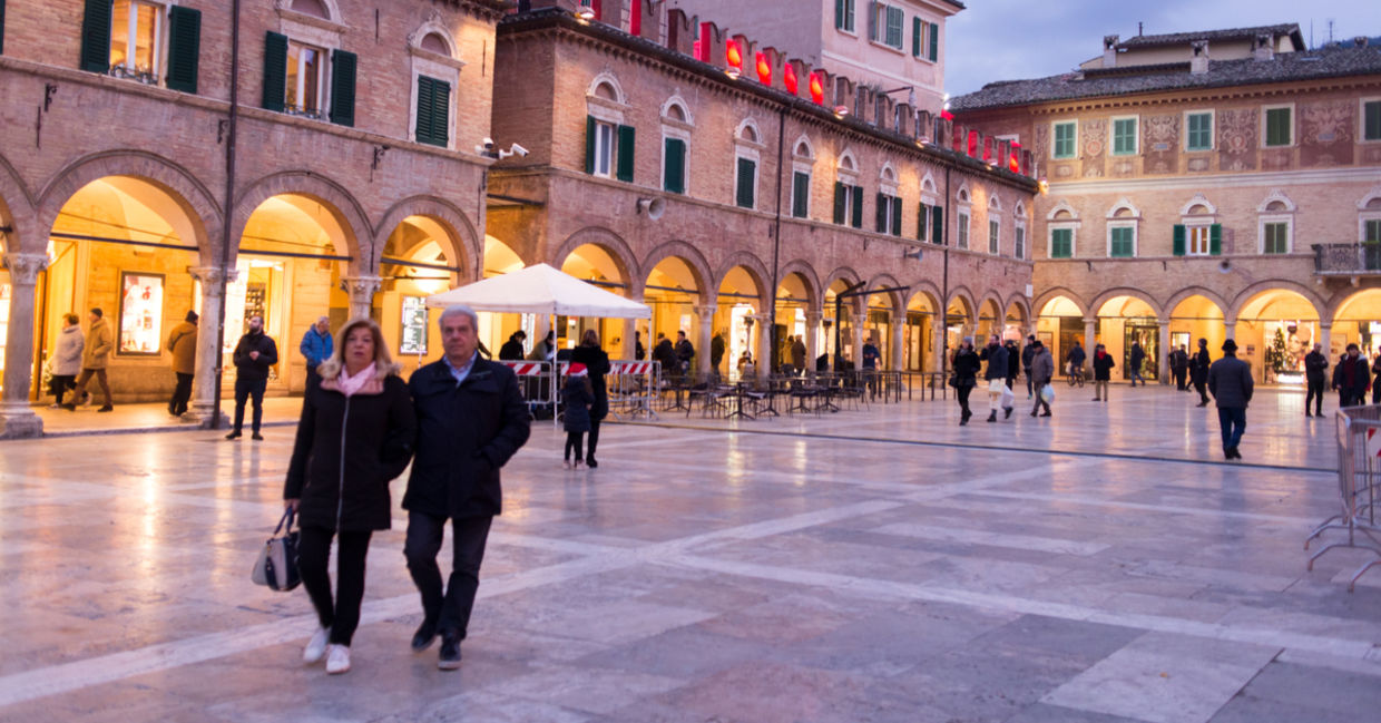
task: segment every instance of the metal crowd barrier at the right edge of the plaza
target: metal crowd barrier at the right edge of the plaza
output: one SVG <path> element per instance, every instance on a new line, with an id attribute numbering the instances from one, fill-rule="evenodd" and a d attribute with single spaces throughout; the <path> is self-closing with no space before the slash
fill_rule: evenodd
<path id="1" fill-rule="evenodd" d="M 1308 570 L 1323 553 L 1353 547 L 1378 558 L 1358 568 L 1348 581 L 1352 592 L 1358 578 L 1381 564 L 1381 527 L 1377 527 L 1377 494 L 1381 492 L 1381 405 L 1349 406 L 1337 412 L 1338 440 L 1338 514 L 1329 517 L 1304 541 L 1304 549 L 1330 529 L 1346 532 L 1346 539 L 1324 545 L 1309 556 Z"/>

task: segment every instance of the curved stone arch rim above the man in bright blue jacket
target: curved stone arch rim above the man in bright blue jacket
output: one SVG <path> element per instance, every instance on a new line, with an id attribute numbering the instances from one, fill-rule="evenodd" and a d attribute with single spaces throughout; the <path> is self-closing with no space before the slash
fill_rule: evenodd
<path id="1" fill-rule="evenodd" d="M 374 271 L 376 267 L 366 265 L 373 264 L 376 256 L 373 249 L 374 227 L 369 223 L 369 216 L 345 187 L 316 171 L 280 171 L 249 184 L 240 192 L 235 213 L 231 217 L 231 238 L 239 239 L 244 234 L 244 225 L 249 223 L 250 216 L 265 200 L 283 194 L 307 196 L 325 205 L 345 232 L 347 253 L 354 259 L 349 263 L 349 272 L 367 275 Z M 366 239 L 369 241 L 369 249 L 363 247 Z M 229 241 L 226 242 L 231 243 Z M 231 249 L 231 261 L 235 261 L 238 254 L 239 247 L 235 245 Z"/>

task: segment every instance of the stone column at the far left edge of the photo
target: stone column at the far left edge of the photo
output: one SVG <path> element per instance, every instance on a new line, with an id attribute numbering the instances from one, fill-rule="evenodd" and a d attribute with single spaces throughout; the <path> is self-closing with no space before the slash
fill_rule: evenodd
<path id="1" fill-rule="evenodd" d="M 29 406 L 33 380 L 33 308 L 46 253 L 4 254 L 10 268 L 10 330 L 4 346 L 4 394 L 0 395 L 0 438 L 41 437 L 43 419 Z"/>

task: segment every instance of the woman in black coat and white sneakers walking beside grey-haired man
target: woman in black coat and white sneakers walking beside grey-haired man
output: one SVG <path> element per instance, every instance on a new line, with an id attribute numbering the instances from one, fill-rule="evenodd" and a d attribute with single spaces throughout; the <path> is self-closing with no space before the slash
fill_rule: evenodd
<path id="1" fill-rule="evenodd" d="M 349 670 L 349 644 L 365 597 L 365 557 L 376 529 L 388 529 L 388 482 L 413 456 L 417 419 L 384 335 L 370 319 L 338 333 L 336 351 L 308 380 L 283 499 L 298 513 L 298 571 L 320 629 L 302 651 L 327 673 Z M 327 571 L 338 535 L 337 594 Z"/>

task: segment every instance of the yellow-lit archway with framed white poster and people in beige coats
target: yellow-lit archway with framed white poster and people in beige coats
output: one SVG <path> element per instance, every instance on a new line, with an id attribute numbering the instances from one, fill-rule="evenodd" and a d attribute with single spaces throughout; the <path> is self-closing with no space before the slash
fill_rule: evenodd
<path id="1" fill-rule="evenodd" d="M 167 332 L 202 306 L 188 267 L 197 265 L 206 232 L 186 209 L 173 192 L 131 176 L 91 181 L 62 205 L 48 232 L 48 267 L 35 290 L 39 343 L 30 400 L 47 393 L 40 388 L 43 365 L 57 347 L 64 315 L 76 314 L 87 333 L 91 308 L 101 310 L 110 330 L 115 348 L 106 375 L 113 397 L 167 398 L 175 386 L 163 357 Z"/>

